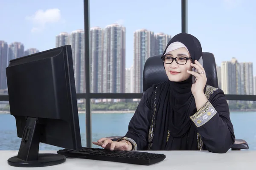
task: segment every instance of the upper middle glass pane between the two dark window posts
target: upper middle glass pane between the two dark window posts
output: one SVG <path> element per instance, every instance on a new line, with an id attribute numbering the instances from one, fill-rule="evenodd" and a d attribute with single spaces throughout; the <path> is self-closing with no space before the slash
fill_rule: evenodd
<path id="1" fill-rule="evenodd" d="M 181 32 L 181 3 L 93 0 L 90 26 L 90 91 L 142 93 L 146 59 L 162 54 L 169 39 Z"/>

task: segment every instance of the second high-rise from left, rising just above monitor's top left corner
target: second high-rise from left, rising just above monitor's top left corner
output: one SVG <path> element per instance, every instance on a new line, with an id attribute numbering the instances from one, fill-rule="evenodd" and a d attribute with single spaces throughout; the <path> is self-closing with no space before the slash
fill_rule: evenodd
<path id="1" fill-rule="evenodd" d="M 11 59 L 16 59 L 24 56 L 24 45 L 20 42 L 13 42 L 8 49 L 8 62 Z"/>

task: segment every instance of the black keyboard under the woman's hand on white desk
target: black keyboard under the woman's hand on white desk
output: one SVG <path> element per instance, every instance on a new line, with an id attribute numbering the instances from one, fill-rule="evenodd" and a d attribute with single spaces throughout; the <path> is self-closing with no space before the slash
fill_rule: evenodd
<path id="1" fill-rule="evenodd" d="M 81 150 L 62 149 L 58 154 L 67 158 L 84 158 L 101 161 L 114 161 L 128 164 L 151 165 L 163 161 L 166 156 L 157 153 L 147 153 L 138 151 L 107 150 L 103 148 L 82 147 Z"/>

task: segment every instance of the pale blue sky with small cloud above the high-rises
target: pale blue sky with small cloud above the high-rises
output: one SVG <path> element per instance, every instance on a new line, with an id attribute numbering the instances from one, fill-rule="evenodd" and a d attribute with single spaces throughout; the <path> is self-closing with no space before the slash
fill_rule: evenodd
<path id="1" fill-rule="evenodd" d="M 188 33 L 215 55 L 217 65 L 232 57 L 256 63 L 255 6 L 255 0 L 188 0 Z M 25 50 L 55 48 L 59 33 L 84 29 L 83 0 L 0 0 L 0 16 L 0 40 L 21 42 Z M 181 32 L 181 0 L 90 0 L 90 27 L 113 23 L 126 28 L 125 68 L 130 68 L 134 31 L 172 37 Z"/>

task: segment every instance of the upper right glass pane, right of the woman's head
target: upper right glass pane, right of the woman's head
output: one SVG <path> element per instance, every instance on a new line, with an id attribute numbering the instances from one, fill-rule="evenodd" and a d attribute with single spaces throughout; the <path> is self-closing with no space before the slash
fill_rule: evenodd
<path id="1" fill-rule="evenodd" d="M 255 1 L 188 0 L 188 33 L 198 38 L 203 51 L 214 54 L 225 94 L 256 94 L 255 5 Z"/>

